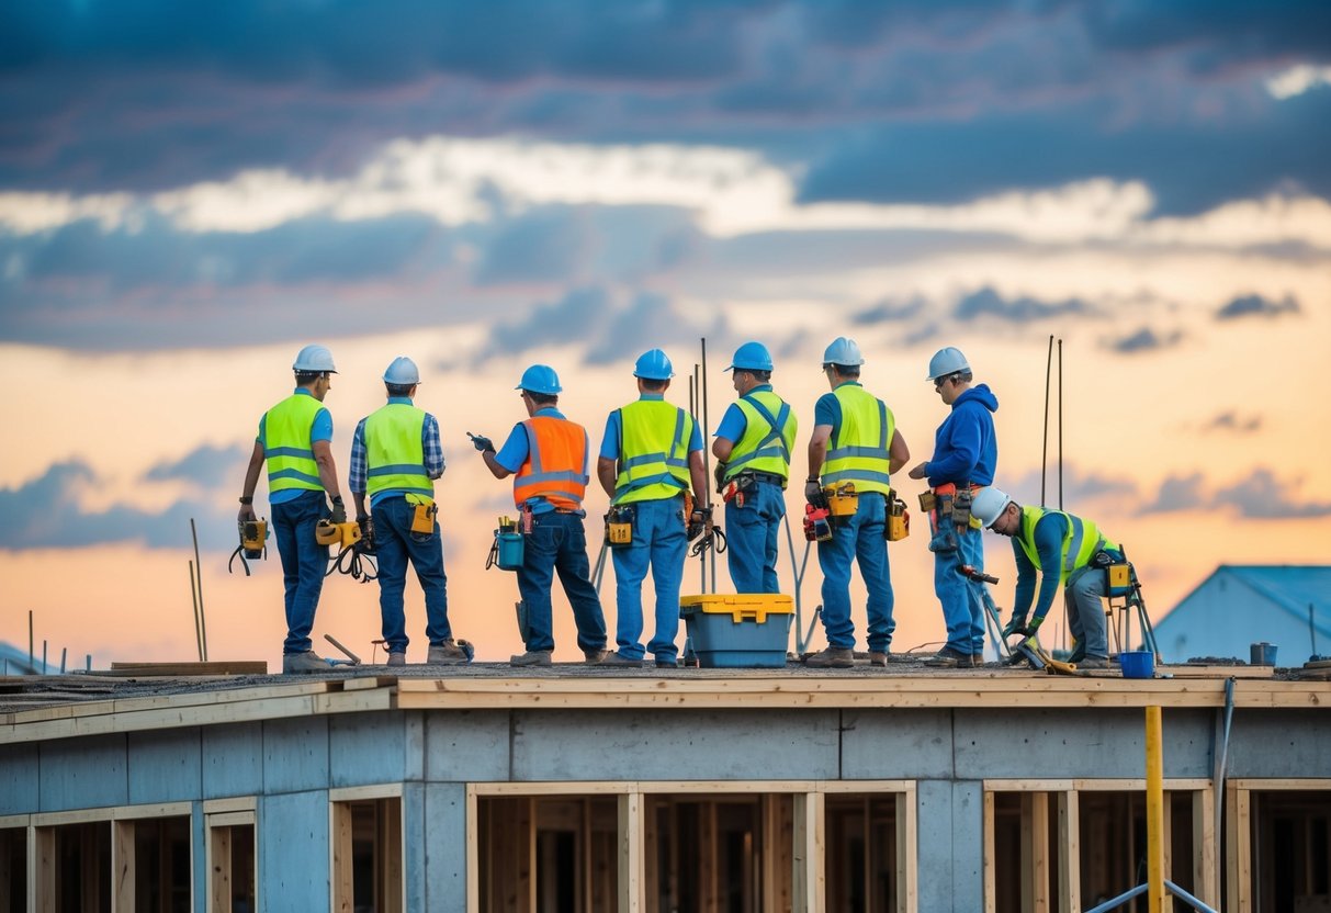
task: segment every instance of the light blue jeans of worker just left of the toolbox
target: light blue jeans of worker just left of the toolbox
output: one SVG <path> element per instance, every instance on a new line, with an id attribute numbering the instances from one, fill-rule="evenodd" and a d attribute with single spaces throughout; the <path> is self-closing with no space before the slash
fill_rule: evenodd
<path id="1" fill-rule="evenodd" d="M 656 584 L 656 634 L 647 651 L 658 661 L 673 663 L 679 655 L 679 587 L 684 579 L 684 554 L 688 534 L 684 531 L 684 498 L 663 498 L 634 503 L 634 542 L 611 548 L 615 562 L 615 643 L 626 659 L 642 659 L 643 645 L 643 580 L 651 566 Z"/>

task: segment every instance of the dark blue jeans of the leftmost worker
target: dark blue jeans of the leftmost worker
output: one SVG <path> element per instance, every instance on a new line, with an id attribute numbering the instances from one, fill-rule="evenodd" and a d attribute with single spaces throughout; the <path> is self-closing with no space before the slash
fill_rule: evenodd
<path id="1" fill-rule="evenodd" d="M 329 515 L 322 491 L 303 491 L 290 500 L 273 504 L 273 538 L 282 558 L 286 586 L 286 640 L 284 653 L 303 653 L 313 648 L 314 610 L 323 591 L 329 567 L 327 546 L 314 540 L 314 526 Z"/>

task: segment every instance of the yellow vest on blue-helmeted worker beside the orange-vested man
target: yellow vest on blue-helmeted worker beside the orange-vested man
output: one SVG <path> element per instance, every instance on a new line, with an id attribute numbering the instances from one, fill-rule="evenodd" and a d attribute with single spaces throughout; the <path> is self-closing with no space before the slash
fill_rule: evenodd
<path id="1" fill-rule="evenodd" d="M 692 415 L 664 399 L 639 399 L 619 410 L 619 426 L 614 503 L 660 500 L 688 488 Z"/>

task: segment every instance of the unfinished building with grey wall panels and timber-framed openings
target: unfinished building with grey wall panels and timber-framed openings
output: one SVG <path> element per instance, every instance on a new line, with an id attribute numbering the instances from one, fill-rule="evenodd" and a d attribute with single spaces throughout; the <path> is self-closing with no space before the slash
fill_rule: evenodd
<path id="1" fill-rule="evenodd" d="M 1153 705 L 1169 880 L 1331 904 L 1318 671 L 383 672 L 7 679 L 0 910 L 1085 912 Z"/>

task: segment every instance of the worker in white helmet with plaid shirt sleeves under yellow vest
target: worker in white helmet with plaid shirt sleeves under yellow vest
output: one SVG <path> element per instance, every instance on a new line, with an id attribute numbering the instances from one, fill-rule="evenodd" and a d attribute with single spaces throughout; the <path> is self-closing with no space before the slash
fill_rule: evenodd
<path id="1" fill-rule="evenodd" d="M 449 626 L 449 579 L 443 572 L 434 479 L 443 475 L 439 422 L 413 403 L 421 371 L 410 358 L 394 358 L 383 373 L 387 403 L 355 426 L 351 439 L 351 496 L 355 519 L 370 531 L 379 563 L 379 615 L 389 665 L 407 664 L 406 614 L 402 608 L 407 562 L 425 591 L 426 663 L 466 663 L 467 652 Z M 369 496 L 369 511 L 365 499 Z"/>

